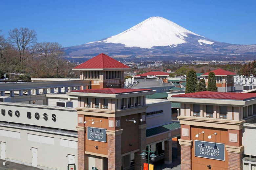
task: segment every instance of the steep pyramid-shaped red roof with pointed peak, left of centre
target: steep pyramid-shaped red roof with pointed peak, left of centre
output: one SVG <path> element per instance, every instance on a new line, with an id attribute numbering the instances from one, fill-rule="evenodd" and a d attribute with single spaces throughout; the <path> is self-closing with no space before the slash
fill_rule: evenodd
<path id="1" fill-rule="evenodd" d="M 128 66 L 106 54 L 98 54 L 90 60 L 76 66 L 74 69 L 129 69 Z"/>

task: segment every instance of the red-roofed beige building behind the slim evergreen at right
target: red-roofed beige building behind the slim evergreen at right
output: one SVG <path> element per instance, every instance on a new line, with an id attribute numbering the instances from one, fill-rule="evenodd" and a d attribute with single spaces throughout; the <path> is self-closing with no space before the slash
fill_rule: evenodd
<path id="1" fill-rule="evenodd" d="M 236 75 L 236 73 L 223 69 L 217 69 L 210 72 L 214 72 L 216 76 L 216 86 L 219 92 L 234 91 L 234 75 Z M 204 76 L 206 85 L 208 85 L 208 75 L 210 72 L 201 75 Z"/>

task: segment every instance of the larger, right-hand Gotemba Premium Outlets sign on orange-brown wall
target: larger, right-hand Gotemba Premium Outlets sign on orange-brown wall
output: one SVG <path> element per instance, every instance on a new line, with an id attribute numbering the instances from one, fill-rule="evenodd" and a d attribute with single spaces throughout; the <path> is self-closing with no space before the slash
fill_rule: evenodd
<path id="1" fill-rule="evenodd" d="M 195 156 L 225 161 L 225 144 L 195 140 Z"/>

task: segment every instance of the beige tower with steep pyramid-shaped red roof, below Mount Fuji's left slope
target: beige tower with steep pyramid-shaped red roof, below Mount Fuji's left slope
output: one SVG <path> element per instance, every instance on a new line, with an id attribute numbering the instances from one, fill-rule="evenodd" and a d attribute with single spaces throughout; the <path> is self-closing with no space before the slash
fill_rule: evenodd
<path id="1" fill-rule="evenodd" d="M 76 66 L 81 80 L 91 80 L 89 89 L 123 88 L 124 71 L 130 68 L 106 54 L 98 54 L 90 60 Z"/>

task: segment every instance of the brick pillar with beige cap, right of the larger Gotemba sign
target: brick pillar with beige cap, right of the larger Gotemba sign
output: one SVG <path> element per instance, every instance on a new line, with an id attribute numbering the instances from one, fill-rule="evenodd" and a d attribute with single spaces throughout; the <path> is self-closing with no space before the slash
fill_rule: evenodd
<path id="1" fill-rule="evenodd" d="M 234 147 L 226 145 L 228 154 L 228 170 L 243 170 L 244 146 Z"/>

